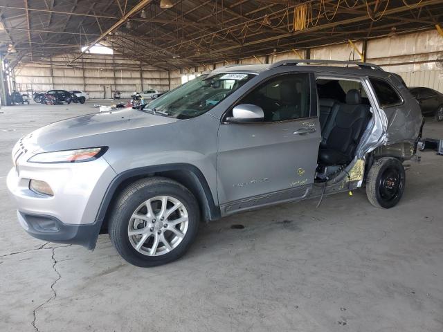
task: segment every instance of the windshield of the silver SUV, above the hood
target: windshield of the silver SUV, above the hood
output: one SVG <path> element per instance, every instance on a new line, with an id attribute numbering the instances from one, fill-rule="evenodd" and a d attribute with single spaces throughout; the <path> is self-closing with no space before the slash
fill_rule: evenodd
<path id="1" fill-rule="evenodd" d="M 253 76 L 241 73 L 201 75 L 150 102 L 145 110 L 179 119 L 195 118 L 215 107 Z"/>

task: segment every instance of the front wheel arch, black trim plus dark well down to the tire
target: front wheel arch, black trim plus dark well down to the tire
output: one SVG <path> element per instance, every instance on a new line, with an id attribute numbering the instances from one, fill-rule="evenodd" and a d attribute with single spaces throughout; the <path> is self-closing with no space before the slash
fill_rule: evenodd
<path id="1" fill-rule="evenodd" d="M 201 216 L 203 216 L 205 221 L 217 220 L 221 217 L 220 209 L 215 205 L 208 181 L 206 181 L 200 169 L 194 165 L 177 163 L 138 167 L 118 174 L 109 185 L 96 217 L 96 223 L 100 224 L 100 234 L 107 233 L 109 211 L 111 210 L 112 202 L 118 197 L 121 190 L 129 183 L 150 176 L 171 178 L 187 187 L 199 202 Z"/>

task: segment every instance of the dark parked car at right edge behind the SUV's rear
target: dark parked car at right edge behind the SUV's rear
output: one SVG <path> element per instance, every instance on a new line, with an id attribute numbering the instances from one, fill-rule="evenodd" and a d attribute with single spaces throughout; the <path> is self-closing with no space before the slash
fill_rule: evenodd
<path id="1" fill-rule="evenodd" d="M 443 121 L 443 93 L 422 87 L 411 87 L 409 91 L 418 100 L 424 116 L 435 116 L 435 120 Z"/>

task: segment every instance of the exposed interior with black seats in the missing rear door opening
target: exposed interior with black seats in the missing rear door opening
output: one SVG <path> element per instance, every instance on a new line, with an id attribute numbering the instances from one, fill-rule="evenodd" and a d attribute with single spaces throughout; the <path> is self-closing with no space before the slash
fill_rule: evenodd
<path id="1" fill-rule="evenodd" d="M 322 141 L 316 181 L 327 181 L 354 158 L 372 113 L 360 82 L 317 80 Z"/>

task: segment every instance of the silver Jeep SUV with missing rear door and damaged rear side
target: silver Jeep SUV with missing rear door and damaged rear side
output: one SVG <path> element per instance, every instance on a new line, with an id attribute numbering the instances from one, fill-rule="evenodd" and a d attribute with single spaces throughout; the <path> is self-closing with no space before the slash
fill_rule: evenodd
<path id="1" fill-rule="evenodd" d="M 201 219 L 358 187 L 392 208 L 421 129 L 404 82 L 373 64 L 227 66 L 24 136 L 8 189 L 33 237 L 92 250 L 108 232 L 129 263 L 156 266 L 188 250 Z"/>

